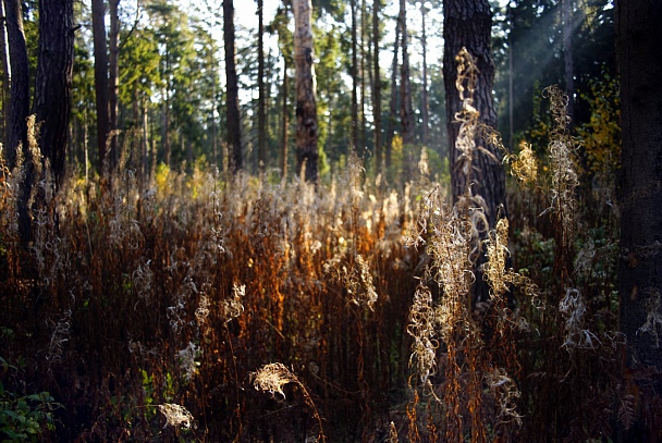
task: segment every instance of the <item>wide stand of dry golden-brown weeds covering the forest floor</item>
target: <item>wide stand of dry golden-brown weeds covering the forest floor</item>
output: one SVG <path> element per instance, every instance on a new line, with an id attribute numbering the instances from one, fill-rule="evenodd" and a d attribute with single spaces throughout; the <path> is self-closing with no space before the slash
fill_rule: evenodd
<path id="1" fill-rule="evenodd" d="M 500 138 L 478 124 L 462 60 L 467 170 L 477 134 Z M 53 194 L 45 165 L 24 248 L 25 165 L 1 167 L 0 356 L 26 361 L 4 389 L 64 406 L 47 441 L 612 435 L 635 407 L 617 377 L 617 249 L 581 210 L 565 101 L 547 94 L 548 158 L 505 156 L 522 188 L 495 226 L 470 186 L 449 206 L 425 156 L 401 190 L 356 156 L 318 189 L 196 165 Z M 490 300 L 475 305 L 479 249 Z M 660 329 L 649 316 L 641 332 Z"/>

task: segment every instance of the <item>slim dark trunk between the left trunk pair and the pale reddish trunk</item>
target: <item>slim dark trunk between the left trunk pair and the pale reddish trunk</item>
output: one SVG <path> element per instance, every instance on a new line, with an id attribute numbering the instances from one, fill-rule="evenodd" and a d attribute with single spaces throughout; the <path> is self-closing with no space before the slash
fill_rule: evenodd
<path id="1" fill-rule="evenodd" d="M 225 42 L 225 79 L 228 85 L 228 147 L 232 150 L 230 170 L 235 173 L 243 169 L 242 122 L 240 116 L 238 77 L 236 74 L 236 51 L 234 48 L 234 4 L 223 1 L 223 40 Z"/>

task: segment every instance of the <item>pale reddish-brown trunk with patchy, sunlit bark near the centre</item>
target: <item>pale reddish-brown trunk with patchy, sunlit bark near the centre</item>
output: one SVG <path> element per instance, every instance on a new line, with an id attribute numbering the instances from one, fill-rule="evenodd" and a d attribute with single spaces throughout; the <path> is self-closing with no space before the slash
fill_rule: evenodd
<path id="1" fill-rule="evenodd" d="M 296 71 L 296 172 L 306 169 L 307 182 L 317 182 L 317 102 L 312 66 L 312 5 L 294 0 L 294 66 Z"/>

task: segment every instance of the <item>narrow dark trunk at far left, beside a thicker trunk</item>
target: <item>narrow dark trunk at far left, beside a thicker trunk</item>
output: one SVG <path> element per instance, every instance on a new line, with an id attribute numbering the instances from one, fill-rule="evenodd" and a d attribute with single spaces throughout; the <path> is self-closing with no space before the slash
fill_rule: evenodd
<path id="1" fill-rule="evenodd" d="M 9 134 L 7 138 L 7 160 L 13 168 L 16 148 L 27 149 L 27 115 L 29 114 L 29 64 L 27 45 L 23 32 L 21 0 L 4 0 L 7 13 L 7 33 L 9 40 L 10 70 L 13 74 L 10 109 Z"/>

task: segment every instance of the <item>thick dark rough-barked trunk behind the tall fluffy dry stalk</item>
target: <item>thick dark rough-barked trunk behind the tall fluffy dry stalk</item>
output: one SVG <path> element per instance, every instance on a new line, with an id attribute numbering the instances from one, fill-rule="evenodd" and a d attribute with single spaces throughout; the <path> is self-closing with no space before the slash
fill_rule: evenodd
<path id="1" fill-rule="evenodd" d="M 459 151 L 455 147 L 459 124 L 455 123 L 455 114 L 462 109 L 459 95 L 455 85 L 457 79 L 457 61 L 455 57 L 464 47 L 476 58 L 478 67 L 478 83 L 474 95 L 473 106 L 480 113 L 480 122 L 495 127 L 497 113 L 492 98 L 492 86 L 494 79 L 494 63 L 491 57 L 491 30 L 492 13 L 488 0 L 444 0 L 443 14 L 443 76 L 446 91 L 446 123 L 449 128 L 449 150 L 451 164 L 451 184 L 453 202 L 470 186 L 473 196 L 480 196 L 485 200 L 482 210 L 485 211 L 489 226 L 479 226 L 482 230 L 493 229 L 497 218 L 501 213 L 507 216 L 505 211 L 505 173 L 501 164 L 502 153 L 495 146 L 486 144 L 481 137 L 477 137 L 476 146 L 483 147 L 487 155 L 480 149 L 473 152 L 473 162 L 469 174 L 464 174 L 458 168 Z M 492 157 L 493 156 L 493 157 Z M 500 211 L 500 208 L 501 209 Z M 485 234 L 483 234 L 485 235 Z M 477 242 L 483 239 L 476 238 Z M 480 266 L 485 262 L 483 254 L 477 257 L 475 273 L 476 284 L 474 285 L 474 299 L 487 299 L 489 288 L 482 279 Z"/>

